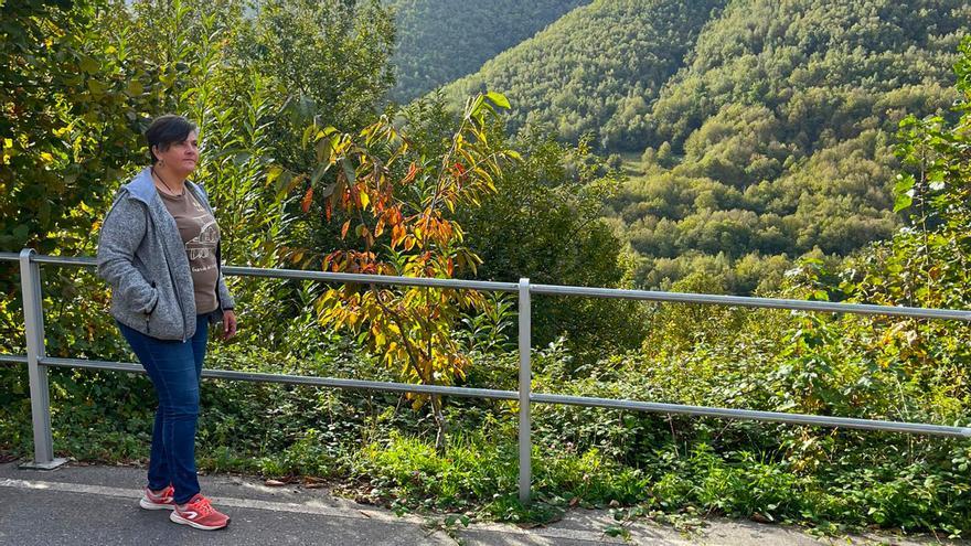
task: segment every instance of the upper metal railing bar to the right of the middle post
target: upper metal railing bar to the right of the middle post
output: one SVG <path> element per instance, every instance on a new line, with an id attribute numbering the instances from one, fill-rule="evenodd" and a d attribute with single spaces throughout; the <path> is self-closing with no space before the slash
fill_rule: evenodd
<path id="1" fill-rule="evenodd" d="M 590 298 L 616 298 L 628 300 L 704 303 L 765 309 L 791 309 L 796 311 L 823 311 L 834 313 L 885 314 L 921 319 L 953 319 L 971 321 L 971 311 L 954 309 L 929 309 L 918 307 L 874 306 L 869 303 L 840 303 L 832 301 L 805 301 L 749 296 L 724 296 L 690 292 L 663 292 L 657 290 L 627 290 L 620 288 L 569 287 L 559 285 L 532 285 L 533 293 L 554 296 L 586 296 Z"/>

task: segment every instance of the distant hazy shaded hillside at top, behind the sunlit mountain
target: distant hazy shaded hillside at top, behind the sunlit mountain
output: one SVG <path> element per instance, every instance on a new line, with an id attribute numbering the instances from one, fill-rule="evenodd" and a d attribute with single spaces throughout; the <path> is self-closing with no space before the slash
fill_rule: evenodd
<path id="1" fill-rule="evenodd" d="M 405 101 L 478 71 L 482 63 L 522 42 L 589 0 L 390 0 L 396 14 L 397 85 Z"/>

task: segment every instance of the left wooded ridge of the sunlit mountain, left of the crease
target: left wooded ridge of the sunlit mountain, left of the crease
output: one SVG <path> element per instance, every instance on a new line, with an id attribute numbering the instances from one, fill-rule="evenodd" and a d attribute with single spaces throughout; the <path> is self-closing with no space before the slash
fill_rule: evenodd
<path id="1" fill-rule="evenodd" d="M 483 87 L 500 90 L 513 104 L 513 129 L 544 124 L 568 140 L 593 131 L 613 147 L 723 3 L 597 0 L 449 85 L 446 95 L 460 103 Z"/>

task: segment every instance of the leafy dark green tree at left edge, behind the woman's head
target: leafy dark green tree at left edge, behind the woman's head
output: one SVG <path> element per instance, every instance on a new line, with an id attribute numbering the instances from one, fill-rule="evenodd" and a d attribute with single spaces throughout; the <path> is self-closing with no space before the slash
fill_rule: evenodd
<path id="1" fill-rule="evenodd" d="M 130 34 L 107 34 L 115 10 L 0 3 L 0 248 L 89 248 L 94 211 L 138 157 L 164 84 L 129 55 Z"/>

